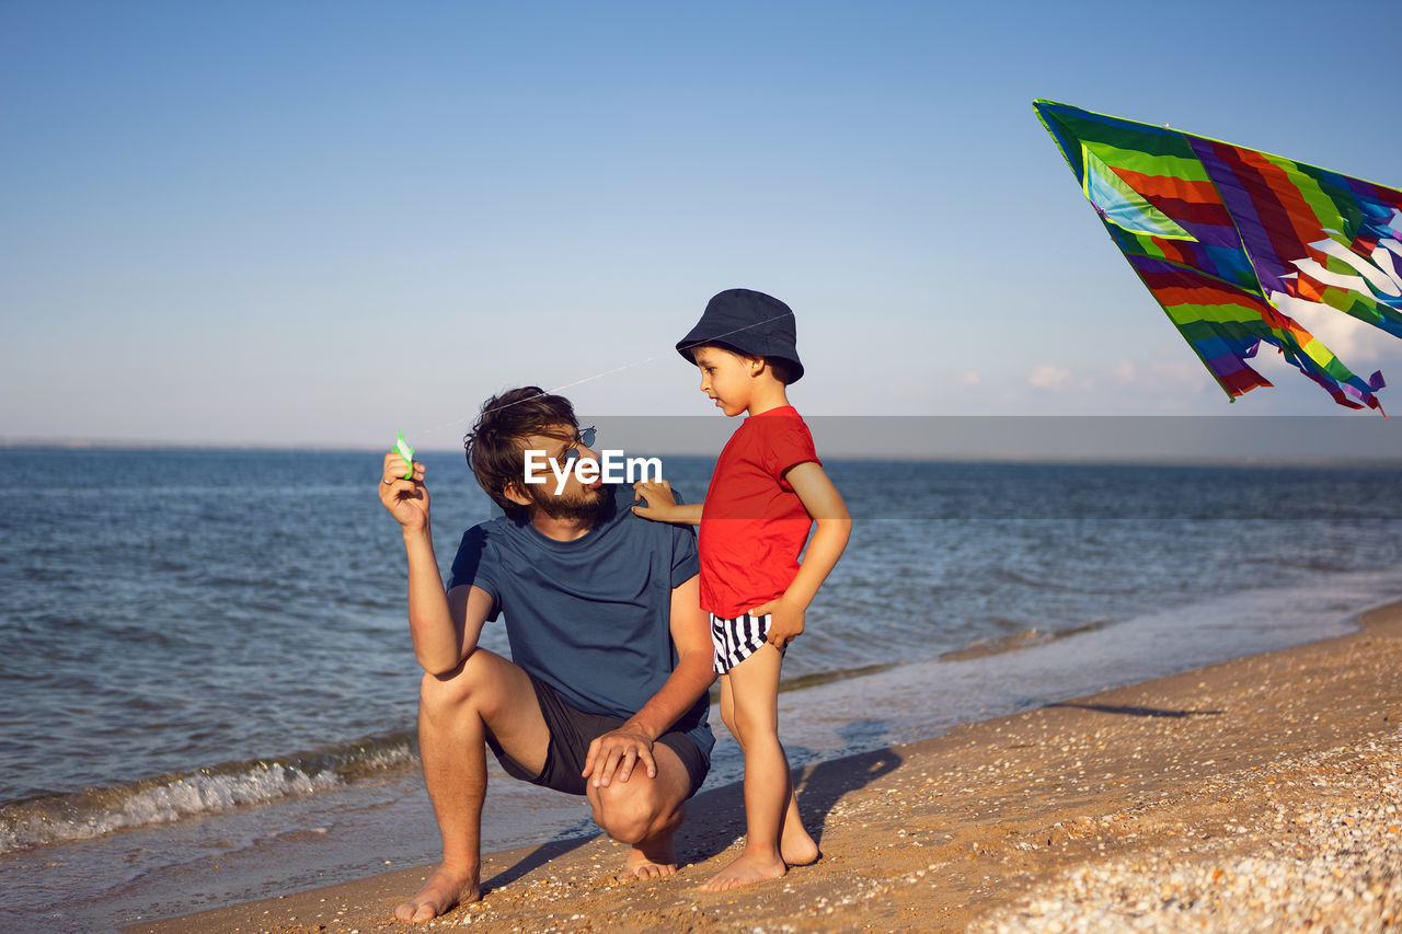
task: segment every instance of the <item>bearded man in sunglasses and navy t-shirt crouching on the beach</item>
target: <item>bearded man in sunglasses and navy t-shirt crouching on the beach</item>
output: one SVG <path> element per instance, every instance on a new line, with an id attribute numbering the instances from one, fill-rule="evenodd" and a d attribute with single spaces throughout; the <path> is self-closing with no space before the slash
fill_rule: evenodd
<path id="1" fill-rule="evenodd" d="M 695 537 L 635 516 L 627 487 L 580 482 L 576 459 L 597 463 L 592 435 L 568 400 L 534 386 L 482 405 L 467 460 L 506 515 L 463 536 L 447 593 L 423 466 L 386 454 L 380 501 L 404 533 L 425 670 L 419 747 L 443 836 L 443 862 L 398 906 L 401 921 L 481 898 L 485 746 L 513 777 L 586 795 L 599 826 L 632 847 L 622 875 L 676 871 L 672 836 L 714 745 Z M 548 482 L 527 482 L 527 450 L 552 464 Z M 477 645 L 498 616 L 512 661 Z"/>

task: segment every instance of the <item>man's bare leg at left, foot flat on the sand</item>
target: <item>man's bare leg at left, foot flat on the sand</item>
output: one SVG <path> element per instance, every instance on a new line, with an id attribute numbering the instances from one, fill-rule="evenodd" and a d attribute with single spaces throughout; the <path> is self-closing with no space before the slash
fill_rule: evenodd
<path id="1" fill-rule="evenodd" d="M 486 732 L 522 766 L 545 766 L 550 729 L 524 670 L 477 649 L 447 675 L 425 675 L 419 691 L 423 781 L 443 836 L 443 862 L 394 914 L 426 921 L 481 898 L 481 823 Z"/>

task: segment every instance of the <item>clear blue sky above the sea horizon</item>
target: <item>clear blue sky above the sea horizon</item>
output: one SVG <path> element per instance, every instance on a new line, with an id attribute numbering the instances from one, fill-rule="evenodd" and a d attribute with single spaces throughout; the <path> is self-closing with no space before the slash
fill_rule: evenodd
<path id="1" fill-rule="evenodd" d="M 0 0 L 0 440 L 450 449 L 523 384 L 721 418 L 673 345 L 728 287 L 794 307 L 805 415 L 1402 431 L 1272 348 L 1228 404 L 1032 109 L 1398 187 L 1399 34 L 1395 0 Z M 1300 317 L 1402 387 L 1402 341 Z"/>

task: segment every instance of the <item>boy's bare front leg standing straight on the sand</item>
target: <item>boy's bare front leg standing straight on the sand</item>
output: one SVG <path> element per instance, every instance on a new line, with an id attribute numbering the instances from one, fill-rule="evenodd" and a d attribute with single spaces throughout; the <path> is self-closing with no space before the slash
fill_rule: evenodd
<path id="1" fill-rule="evenodd" d="M 765 644 L 726 675 L 735 705 L 733 731 L 744 750 L 746 839 L 744 851 L 701 886 L 705 892 L 780 878 L 788 869 L 780 851 L 780 834 L 789 811 L 802 830 L 778 735 L 782 663 L 784 655 Z"/>

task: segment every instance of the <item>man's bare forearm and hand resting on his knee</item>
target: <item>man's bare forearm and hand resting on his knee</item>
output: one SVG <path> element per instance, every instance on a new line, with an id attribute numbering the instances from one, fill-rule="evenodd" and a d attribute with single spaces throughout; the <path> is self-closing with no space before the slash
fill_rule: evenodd
<path id="1" fill-rule="evenodd" d="M 677 666 L 662 689 L 622 726 L 589 745 L 583 776 L 592 776 L 596 788 L 607 787 L 614 777 L 628 781 L 632 767 L 639 762 L 648 770 L 648 777 L 656 778 L 658 763 L 652 757 L 652 743 L 681 714 L 691 710 L 715 682 L 711 668 L 711 623 L 701 610 L 698 576 L 672 589 L 672 642 L 677 647 Z"/>

